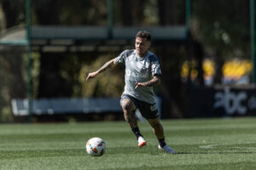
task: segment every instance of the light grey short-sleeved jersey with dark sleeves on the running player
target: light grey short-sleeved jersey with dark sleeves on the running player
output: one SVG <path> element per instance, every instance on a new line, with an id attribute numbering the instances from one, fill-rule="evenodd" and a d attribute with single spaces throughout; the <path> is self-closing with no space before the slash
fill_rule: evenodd
<path id="1" fill-rule="evenodd" d="M 144 57 L 139 57 L 135 49 L 125 50 L 116 58 L 117 63 L 125 64 L 125 91 L 136 99 L 154 102 L 153 87 L 138 87 L 135 82 L 148 82 L 154 75 L 161 75 L 160 64 L 155 54 L 147 52 Z"/>

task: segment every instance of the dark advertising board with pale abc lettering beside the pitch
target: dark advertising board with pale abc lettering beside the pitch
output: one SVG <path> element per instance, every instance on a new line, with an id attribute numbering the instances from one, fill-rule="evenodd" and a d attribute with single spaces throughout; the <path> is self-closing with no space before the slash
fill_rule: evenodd
<path id="1" fill-rule="evenodd" d="M 256 116 L 256 88 L 192 88 L 190 116 Z"/>

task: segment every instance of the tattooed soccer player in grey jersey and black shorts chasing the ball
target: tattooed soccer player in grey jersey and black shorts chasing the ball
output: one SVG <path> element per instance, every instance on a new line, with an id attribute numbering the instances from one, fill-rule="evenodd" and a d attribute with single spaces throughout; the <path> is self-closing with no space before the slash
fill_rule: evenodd
<path id="1" fill-rule="evenodd" d="M 137 125 L 135 111 L 138 109 L 145 117 L 159 141 L 159 149 L 174 154 L 175 151 L 165 142 L 162 127 L 154 101 L 153 86 L 160 84 L 160 64 L 155 54 L 148 51 L 151 36 L 148 31 L 138 31 L 135 39 L 135 49 L 125 50 L 118 57 L 109 60 L 98 71 L 90 72 L 86 81 L 96 77 L 102 71 L 113 65 L 125 65 L 125 91 L 121 96 L 120 105 L 124 111 L 125 121 L 129 123 L 136 135 L 138 146 L 147 144 Z"/>

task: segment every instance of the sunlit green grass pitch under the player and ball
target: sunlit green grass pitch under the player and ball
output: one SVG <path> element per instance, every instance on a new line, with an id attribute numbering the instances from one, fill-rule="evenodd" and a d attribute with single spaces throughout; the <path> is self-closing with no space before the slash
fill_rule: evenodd
<path id="1" fill-rule="evenodd" d="M 166 143 L 177 154 L 157 148 L 147 122 L 139 126 L 148 145 L 125 122 L 0 125 L 0 169 L 256 169 L 256 118 L 162 121 Z M 107 144 L 101 157 L 89 156 L 86 141 Z"/>

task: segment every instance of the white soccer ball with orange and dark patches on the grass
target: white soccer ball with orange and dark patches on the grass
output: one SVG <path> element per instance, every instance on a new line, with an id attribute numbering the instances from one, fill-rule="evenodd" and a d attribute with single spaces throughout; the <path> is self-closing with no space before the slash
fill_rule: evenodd
<path id="1" fill-rule="evenodd" d="M 106 150 L 106 143 L 100 138 L 89 139 L 86 143 L 86 151 L 90 156 L 102 156 Z"/>

